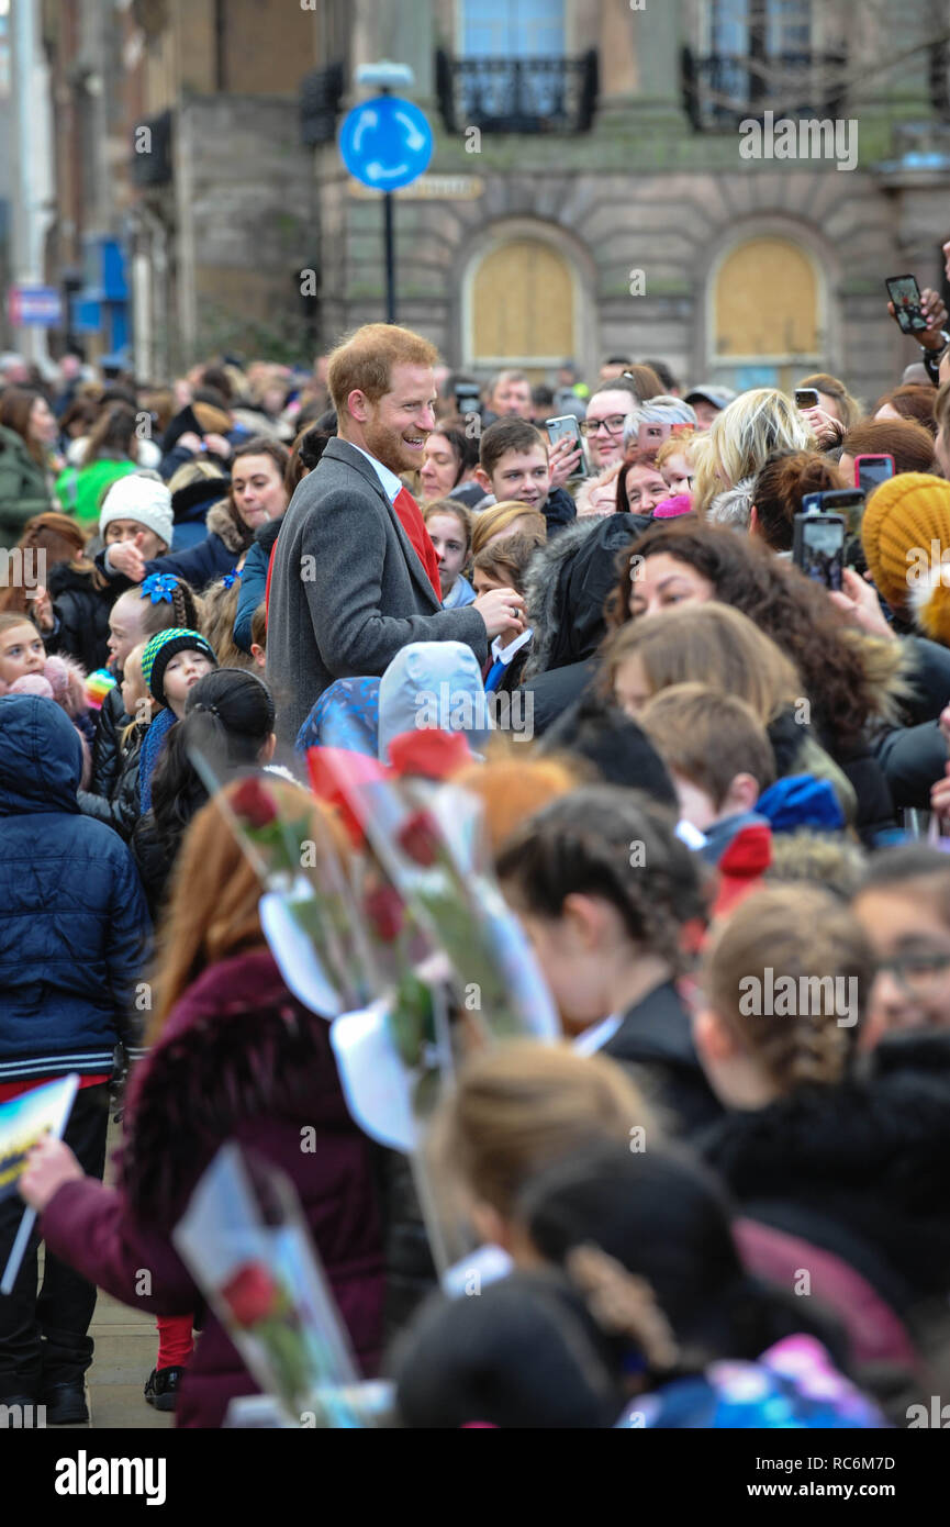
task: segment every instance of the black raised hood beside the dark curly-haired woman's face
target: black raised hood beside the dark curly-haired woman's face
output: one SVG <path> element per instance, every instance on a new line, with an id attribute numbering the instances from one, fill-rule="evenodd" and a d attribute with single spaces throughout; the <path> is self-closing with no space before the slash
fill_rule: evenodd
<path id="1" fill-rule="evenodd" d="M 617 583 L 617 553 L 648 525 L 646 515 L 583 516 L 536 553 L 525 580 L 535 637 L 522 681 L 593 657 L 606 631 L 603 602 Z"/>

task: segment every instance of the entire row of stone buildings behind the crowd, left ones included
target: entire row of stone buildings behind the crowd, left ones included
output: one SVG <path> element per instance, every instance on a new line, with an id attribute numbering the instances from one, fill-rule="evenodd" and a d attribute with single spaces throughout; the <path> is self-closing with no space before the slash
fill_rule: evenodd
<path id="1" fill-rule="evenodd" d="M 409 64 L 434 128 L 396 195 L 397 316 L 446 360 L 542 377 L 663 356 L 690 380 L 915 359 L 883 279 L 941 281 L 945 0 L 43 0 L 58 218 L 122 252 L 134 365 L 310 360 L 385 316 L 382 199 L 342 166 L 360 64 Z M 805 156 L 739 124 L 826 121 Z M 747 142 L 747 140 L 745 140 Z M 773 145 L 774 147 L 774 145 Z M 808 151 L 811 150 L 811 151 Z"/>

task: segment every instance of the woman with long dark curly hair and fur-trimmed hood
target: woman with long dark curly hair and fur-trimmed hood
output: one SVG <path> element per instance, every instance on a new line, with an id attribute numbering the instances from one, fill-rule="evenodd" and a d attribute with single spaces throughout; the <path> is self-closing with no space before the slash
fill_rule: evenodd
<path id="1" fill-rule="evenodd" d="M 893 828 L 884 776 L 869 751 L 869 733 L 895 721 L 895 643 L 845 631 L 825 589 L 764 547 L 692 516 L 651 525 L 617 559 L 619 583 L 608 621 L 718 600 L 771 637 L 796 664 L 809 721 L 858 799 L 857 829 L 874 840 Z"/>

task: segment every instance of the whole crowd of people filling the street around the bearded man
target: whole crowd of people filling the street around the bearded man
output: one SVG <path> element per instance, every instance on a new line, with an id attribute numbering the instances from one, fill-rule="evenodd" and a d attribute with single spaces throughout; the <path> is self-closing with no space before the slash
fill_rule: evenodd
<path id="1" fill-rule="evenodd" d="M 0 1199 L 0 1267 L 38 1214 L 0 1405 L 87 1420 L 96 1287 L 156 1316 L 145 1400 L 177 1425 L 255 1393 L 173 1240 L 228 1141 L 293 1182 L 396 1425 L 874 1429 L 941 1393 L 950 334 L 924 315 L 877 400 L 634 354 L 483 383 L 383 324 L 313 373 L 162 388 L 0 357 L 0 1104 L 79 1077 Z M 843 501 L 805 499 L 868 457 L 890 475 L 808 576 L 802 519 Z M 315 753 L 388 765 L 423 725 L 461 733 L 449 777 L 562 1028 L 472 1048 L 438 1104 L 432 1157 L 499 1257 L 460 1296 L 228 825 L 260 776 L 345 860 Z"/>

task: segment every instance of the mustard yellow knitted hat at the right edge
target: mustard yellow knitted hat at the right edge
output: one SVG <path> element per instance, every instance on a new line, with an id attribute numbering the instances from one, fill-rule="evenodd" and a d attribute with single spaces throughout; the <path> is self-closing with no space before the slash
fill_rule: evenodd
<path id="1" fill-rule="evenodd" d="M 861 542 L 878 592 L 950 646 L 950 483 L 898 472 L 868 499 Z"/>

